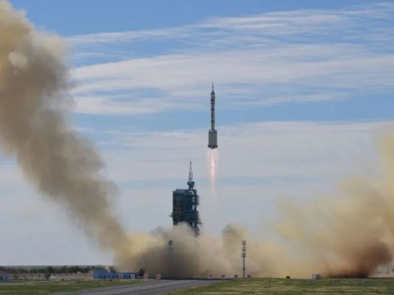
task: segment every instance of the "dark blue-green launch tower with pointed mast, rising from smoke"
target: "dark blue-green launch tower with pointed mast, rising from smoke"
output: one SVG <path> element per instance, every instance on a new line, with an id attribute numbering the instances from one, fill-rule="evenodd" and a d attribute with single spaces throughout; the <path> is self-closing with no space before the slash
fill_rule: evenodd
<path id="1" fill-rule="evenodd" d="M 176 189 L 172 192 L 172 217 L 173 225 L 187 222 L 198 235 L 199 215 L 197 211 L 198 195 L 194 188 L 192 162 L 190 162 L 188 189 Z"/>

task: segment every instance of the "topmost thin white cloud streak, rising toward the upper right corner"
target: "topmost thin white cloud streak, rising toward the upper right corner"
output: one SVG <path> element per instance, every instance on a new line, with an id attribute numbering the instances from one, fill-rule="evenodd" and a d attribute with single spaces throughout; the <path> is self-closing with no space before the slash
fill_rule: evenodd
<path id="1" fill-rule="evenodd" d="M 198 29 L 275 29 L 277 34 L 290 34 L 296 28 L 298 32 L 316 30 L 317 25 L 341 25 L 351 21 L 349 17 L 363 16 L 371 18 L 389 18 L 393 3 L 382 2 L 364 6 L 352 6 L 342 10 L 305 9 L 282 12 L 269 12 L 246 17 L 212 17 L 205 22 L 173 28 L 144 29 L 123 32 L 99 32 L 67 37 L 74 45 L 98 44 L 112 42 L 129 42 L 150 38 L 195 37 Z M 308 27 L 298 28 L 300 25 Z M 311 28 L 310 28 L 311 27 Z M 206 33 L 202 31 L 201 33 Z M 266 33 L 263 31 L 262 33 Z"/>

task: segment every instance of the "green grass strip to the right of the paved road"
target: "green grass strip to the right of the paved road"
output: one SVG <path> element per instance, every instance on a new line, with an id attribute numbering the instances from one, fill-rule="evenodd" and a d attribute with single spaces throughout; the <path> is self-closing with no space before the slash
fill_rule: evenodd
<path id="1" fill-rule="evenodd" d="M 370 295 L 394 294 L 394 279 L 251 279 L 176 291 L 171 295 Z"/>

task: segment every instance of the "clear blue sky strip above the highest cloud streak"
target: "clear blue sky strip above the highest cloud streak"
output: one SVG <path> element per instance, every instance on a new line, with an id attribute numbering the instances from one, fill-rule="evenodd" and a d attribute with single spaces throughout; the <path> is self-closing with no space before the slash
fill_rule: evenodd
<path id="1" fill-rule="evenodd" d="M 294 9 L 335 9 L 347 5 L 367 5 L 376 1 L 311 1 L 311 0 L 228 0 L 193 1 L 149 0 L 128 1 L 46 1 L 13 0 L 15 8 L 25 9 L 37 26 L 62 35 L 157 29 L 189 25 L 216 16 L 244 16 Z M 59 12 L 59 13 L 57 13 Z"/>

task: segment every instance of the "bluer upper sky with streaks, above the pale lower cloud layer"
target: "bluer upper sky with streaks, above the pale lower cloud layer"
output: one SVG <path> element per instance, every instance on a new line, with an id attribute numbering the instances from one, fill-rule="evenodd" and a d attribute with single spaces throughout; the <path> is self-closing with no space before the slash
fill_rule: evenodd
<path id="1" fill-rule="evenodd" d="M 211 80 L 222 95 L 219 124 L 393 116 L 388 112 L 394 50 L 390 2 L 12 3 L 26 9 L 38 28 L 69 41 L 84 126 L 204 127 Z M 201 68 L 193 68 L 201 59 Z M 174 68 L 168 73 L 171 83 L 144 79 L 163 77 L 166 63 Z M 182 73 L 182 67 L 190 71 Z M 185 120 L 185 110 L 195 119 Z"/>

